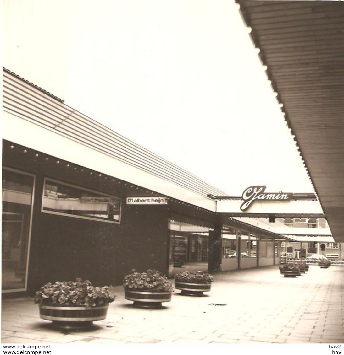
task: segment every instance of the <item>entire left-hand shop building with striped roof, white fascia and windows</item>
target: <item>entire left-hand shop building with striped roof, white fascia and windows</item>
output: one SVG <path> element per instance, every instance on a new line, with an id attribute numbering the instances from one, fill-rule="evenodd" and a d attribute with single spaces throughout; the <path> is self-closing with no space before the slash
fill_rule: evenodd
<path id="1" fill-rule="evenodd" d="M 222 191 L 8 70 L 3 110 L 4 295 L 279 262 L 276 235 L 216 213 L 207 195 Z"/>

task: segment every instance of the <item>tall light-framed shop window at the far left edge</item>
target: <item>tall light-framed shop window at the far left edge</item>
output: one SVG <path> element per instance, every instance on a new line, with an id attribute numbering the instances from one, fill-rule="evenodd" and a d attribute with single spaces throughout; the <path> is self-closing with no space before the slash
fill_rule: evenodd
<path id="1" fill-rule="evenodd" d="M 2 290 L 26 289 L 35 177 L 2 170 Z"/>

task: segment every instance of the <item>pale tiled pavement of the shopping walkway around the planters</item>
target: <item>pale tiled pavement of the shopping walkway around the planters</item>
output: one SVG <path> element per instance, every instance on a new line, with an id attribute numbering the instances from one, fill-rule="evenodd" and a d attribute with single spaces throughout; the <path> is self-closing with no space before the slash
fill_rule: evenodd
<path id="1" fill-rule="evenodd" d="M 310 266 L 284 278 L 277 266 L 215 275 L 207 297 L 176 290 L 162 310 L 116 301 L 92 331 L 61 332 L 28 298 L 2 300 L 2 343 L 343 343 L 344 267 Z M 226 306 L 214 306 L 226 304 Z"/>

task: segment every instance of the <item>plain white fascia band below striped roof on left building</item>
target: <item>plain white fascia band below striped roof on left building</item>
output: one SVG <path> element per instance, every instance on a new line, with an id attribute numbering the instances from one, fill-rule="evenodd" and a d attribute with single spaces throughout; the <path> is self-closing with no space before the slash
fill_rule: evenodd
<path id="1" fill-rule="evenodd" d="M 210 198 L 123 163 L 94 148 L 7 111 L 3 111 L 2 127 L 2 138 L 8 141 L 131 182 L 164 196 L 176 198 L 212 212 L 216 211 L 216 202 Z"/>

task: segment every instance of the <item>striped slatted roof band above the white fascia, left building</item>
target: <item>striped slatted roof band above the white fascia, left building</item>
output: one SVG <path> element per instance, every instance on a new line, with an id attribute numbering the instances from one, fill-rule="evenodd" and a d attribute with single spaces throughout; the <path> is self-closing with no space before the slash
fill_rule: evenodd
<path id="1" fill-rule="evenodd" d="M 225 194 L 197 176 L 70 108 L 61 100 L 54 99 L 51 94 L 45 93 L 7 69 L 3 70 L 3 109 L 202 196 Z"/>

